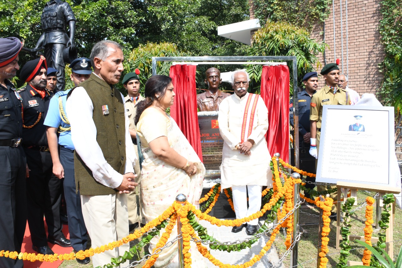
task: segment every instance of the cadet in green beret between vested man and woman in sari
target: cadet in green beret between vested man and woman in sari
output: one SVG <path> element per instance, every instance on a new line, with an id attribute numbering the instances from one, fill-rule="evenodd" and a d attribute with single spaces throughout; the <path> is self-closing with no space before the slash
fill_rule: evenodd
<path id="1" fill-rule="evenodd" d="M 129 72 L 123 77 L 122 83 L 125 89 L 127 89 L 128 95 L 124 98 L 125 101 L 125 109 L 130 122 L 129 132 L 131 139 L 133 140 L 135 154 L 137 155 L 137 160 L 135 161 L 134 171 L 137 174 L 137 183 L 140 185 L 141 183 L 141 170 L 139 168 L 138 161 L 138 151 L 137 151 L 137 132 L 135 132 L 135 112 L 137 111 L 137 104 L 144 100 L 139 94 L 139 70 L 135 69 L 135 72 Z M 137 188 L 140 189 L 139 187 Z M 139 215 L 137 213 L 137 195 L 135 191 L 127 194 L 127 210 L 128 210 L 128 221 L 129 221 L 129 230 L 132 231 L 136 227 L 138 227 L 138 221 L 141 224 L 145 224 L 145 218 L 142 216 L 142 197 L 141 193 L 139 193 Z"/>

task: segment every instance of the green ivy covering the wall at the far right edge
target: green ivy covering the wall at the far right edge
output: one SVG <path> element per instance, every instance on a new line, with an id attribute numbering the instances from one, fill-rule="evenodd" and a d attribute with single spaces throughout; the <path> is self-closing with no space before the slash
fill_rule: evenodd
<path id="1" fill-rule="evenodd" d="M 384 45 L 384 82 L 379 93 L 386 105 L 402 109 L 402 6 L 400 0 L 381 1 L 379 31 Z"/>

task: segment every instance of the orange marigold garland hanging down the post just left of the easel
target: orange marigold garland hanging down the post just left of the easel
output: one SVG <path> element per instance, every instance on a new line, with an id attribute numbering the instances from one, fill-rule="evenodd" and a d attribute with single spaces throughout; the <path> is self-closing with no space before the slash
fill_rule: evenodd
<path id="1" fill-rule="evenodd" d="M 331 208 L 334 200 L 332 198 L 325 198 L 325 201 L 322 202 L 320 197 L 316 198 L 316 205 L 322 209 L 322 222 L 324 223 L 324 227 L 322 227 L 321 233 L 321 252 L 318 254 L 320 256 L 320 268 L 324 268 L 327 265 L 328 258 L 326 258 L 326 254 L 328 254 L 328 235 L 330 233 L 330 222 L 329 216 L 331 215 Z"/>

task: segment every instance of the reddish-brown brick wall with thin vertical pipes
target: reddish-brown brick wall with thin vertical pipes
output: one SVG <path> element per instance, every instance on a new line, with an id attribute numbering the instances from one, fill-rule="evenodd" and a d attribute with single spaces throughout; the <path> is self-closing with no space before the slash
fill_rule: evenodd
<path id="1" fill-rule="evenodd" d="M 378 64 L 384 59 L 384 48 L 381 45 L 379 34 L 379 0 L 348 0 L 348 60 L 349 60 L 349 87 L 363 93 L 375 93 L 383 79 L 379 72 Z M 340 25 L 340 0 L 334 0 L 335 16 L 332 12 L 332 3 L 329 6 L 330 15 L 325 21 L 325 42 L 329 48 L 325 50 L 326 62 L 335 62 L 340 59 L 339 69 L 347 73 L 346 51 L 346 9 L 345 0 L 342 0 L 343 21 L 343 57 L 342 36 Z M 250 12 L 251 14 L 251 12 Z M 335 17 L 335 52 L 334 57 L 334 17 Z M 323 25 L 315 25 L 312 30 L 312 38 L 323 40 Z M 319 55 L 320 62 L 324 66 L 323 55 Z M 343 63 L 343 70 L 342 70 Z M 318 68 L 317 72 L 320 72 Z M 324 85 L 323 79 L 320 86 Z"/>

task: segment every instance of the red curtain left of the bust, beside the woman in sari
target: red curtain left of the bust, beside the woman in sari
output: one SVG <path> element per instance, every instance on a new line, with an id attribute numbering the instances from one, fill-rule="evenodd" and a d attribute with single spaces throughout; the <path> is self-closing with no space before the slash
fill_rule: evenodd
<path id="1" fill-rule="evenodd" d="M 200 130 L 197 116 L 197 91 L 195 87 L 195 65 L 170 66 L 170 77 L 174 86 L 174 103 L 170 116 L 193 146 L 202 161 Z"/>

